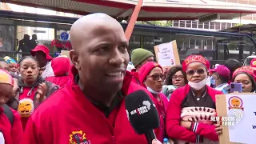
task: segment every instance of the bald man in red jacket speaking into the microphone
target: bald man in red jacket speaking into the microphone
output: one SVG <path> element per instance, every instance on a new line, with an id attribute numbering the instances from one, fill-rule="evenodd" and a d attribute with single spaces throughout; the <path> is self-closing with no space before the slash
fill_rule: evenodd
<path id="1" fill-rule="evenodd" d="M 128 42 L 122 26 L 106 14 L 90 14 L 74 22 L 70 38 L 71 80 L 38 106 L 23 143 L 146 144 L 126 116 L 124 97 L 145 89 L 126 72 Z"/>

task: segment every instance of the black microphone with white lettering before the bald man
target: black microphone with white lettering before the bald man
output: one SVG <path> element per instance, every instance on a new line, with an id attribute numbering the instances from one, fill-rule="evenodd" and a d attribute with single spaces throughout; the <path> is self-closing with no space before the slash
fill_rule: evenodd
<path id="1" fill-rule="evenodd" d="M 154 129 L 160 126 L 158 110 L 144 90 L 126 96 L 126 114 L 137 134 L 145 134 L 149 144 L 156 138 Z"/>

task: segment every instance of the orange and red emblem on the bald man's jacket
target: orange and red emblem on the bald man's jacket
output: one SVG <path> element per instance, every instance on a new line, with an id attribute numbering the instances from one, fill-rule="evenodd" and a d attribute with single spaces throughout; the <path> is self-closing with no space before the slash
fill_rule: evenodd
<path id="1" fill-rule="evenodd" d="M 72 134 L 70 134 L 69 144 L 91 144 L 91 142 L 86 138 L 86 133 L 84 133 L 82 130 L 79 130 L 72 131 Z"/>

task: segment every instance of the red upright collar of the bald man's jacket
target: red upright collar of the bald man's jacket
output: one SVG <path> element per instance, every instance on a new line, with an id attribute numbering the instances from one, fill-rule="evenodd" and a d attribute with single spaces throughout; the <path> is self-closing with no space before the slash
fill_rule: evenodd
<path id="1" fill-rule="evenodd" d="M 70 86 L 78 86 L 78 84 L 75 82 L 75 76 L 78 74 L 78 70 L 74 67 L 71 66 L 70 67 L 70 82 L 69 85 Z M 126 75 L 125 78 L 123 79 L 123 83 L 122 83 L 122 94 L 124 94 L 124 96 L 127 95 L 129 87 L 130 87 L 130 82 L 132 80 L 132 76 L 133 74 L 130 73 L 130 71 L 126 70 Z"/>

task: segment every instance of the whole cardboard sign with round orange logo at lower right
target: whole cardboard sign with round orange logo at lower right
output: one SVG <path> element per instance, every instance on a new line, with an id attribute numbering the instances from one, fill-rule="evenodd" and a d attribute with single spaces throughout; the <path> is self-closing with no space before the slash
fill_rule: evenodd
<path id="1" fill-rule="evenodd" d="M 256 94 L 216 95 L 216 110 L 223 127 L 220 144 L 256 143 Z"/>

